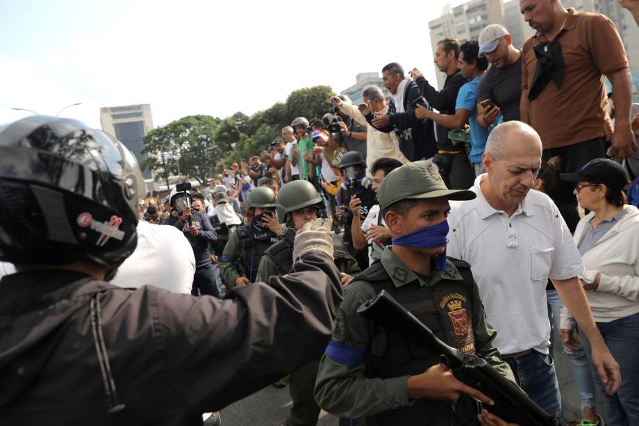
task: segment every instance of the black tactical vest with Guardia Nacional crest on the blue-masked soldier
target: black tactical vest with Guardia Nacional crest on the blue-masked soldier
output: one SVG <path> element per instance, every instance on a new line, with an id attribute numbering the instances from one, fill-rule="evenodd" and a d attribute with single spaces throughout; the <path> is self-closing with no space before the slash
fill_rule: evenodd
<path id="1" fill-rule="evenodd" d="M 376 293 L 386 290 L 397 302 L 429 327 L 442 341 L 467 354 L 474 354 L 472 329 L 472 274 L 470 265 L 451 259 L 463 281 L 443 279 L 434 286 L 418 281 L 395 287 L 381 262 L 362 272 L 356 280 L 369 282 Z M 375 326 L 370 350 L 365 356 L 366 375 L 388 379 L 418 375 L 440 361 L 408 339 Z M 477 405 L 463 396 L 457 402 L 417 400 L 411 407 L 383 411 L 366 418 L 367 426 L 477 425 Z"/>

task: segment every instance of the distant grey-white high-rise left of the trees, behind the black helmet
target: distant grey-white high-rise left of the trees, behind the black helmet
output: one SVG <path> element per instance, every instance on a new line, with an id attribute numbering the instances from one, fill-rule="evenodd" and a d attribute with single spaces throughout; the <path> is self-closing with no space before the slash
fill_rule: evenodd
<path id="1" fill-rule="evenodd" d="M 105 106 L 100 108 L 102 130 L 115 136 L 133 154 L 138 162 L 146 156 L 142 154 L 142 139 L 153 129 L 151 106 L 149 104 L 127 106 Z M 151 172 L 144 171 L 144 179 L 151 179 Z"/>

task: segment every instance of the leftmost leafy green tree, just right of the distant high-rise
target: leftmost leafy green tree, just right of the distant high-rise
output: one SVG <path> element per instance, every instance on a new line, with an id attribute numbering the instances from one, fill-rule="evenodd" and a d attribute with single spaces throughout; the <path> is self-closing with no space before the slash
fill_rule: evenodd
<path id="1" fill-rule="evenodd" d="M 216 139 L 219 118 L 190 115 L 153 129 L 144 136 L 142 168 L 156 170 L 156 180 L 181 174 L 201 185 L 215 176 L 219 159 L 231 150 L 228 140 Z"/>

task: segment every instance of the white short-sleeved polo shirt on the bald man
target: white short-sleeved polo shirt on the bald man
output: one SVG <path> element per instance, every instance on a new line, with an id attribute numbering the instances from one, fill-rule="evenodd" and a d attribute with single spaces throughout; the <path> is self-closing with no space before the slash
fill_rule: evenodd
<path id="1" fill-rule="evenodd" d="M 483 196 L 479 183 L 486 176 L 470 188 L 476 199 L 450 203 L 447 255 L 470 263 L 501 354 L 529 349 L 547 354 L 547 279 L 579 275 L 581 256 L 547 195 L 530 190 L 508 218 Z"/>

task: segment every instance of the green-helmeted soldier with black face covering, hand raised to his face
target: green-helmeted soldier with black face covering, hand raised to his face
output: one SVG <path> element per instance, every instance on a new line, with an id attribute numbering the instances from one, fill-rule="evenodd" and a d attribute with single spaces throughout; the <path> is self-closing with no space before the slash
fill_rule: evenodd
<path id="1" fill-rule="evenodd" d="M 282 227 L 275 216 L 275 192 L 261 186 L 249 192 L 247 205 L 251 222 L 229 234 L 219 270 L 229 289 L 256 281 L 260 260 L 266 249 L 279 239 Z"/>

